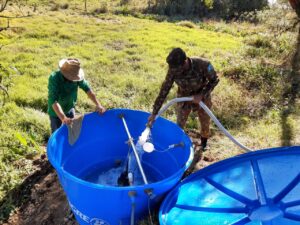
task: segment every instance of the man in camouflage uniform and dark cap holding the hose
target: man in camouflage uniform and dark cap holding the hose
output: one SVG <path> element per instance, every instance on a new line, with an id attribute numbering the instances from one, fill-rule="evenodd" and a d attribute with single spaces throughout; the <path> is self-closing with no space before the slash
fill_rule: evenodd
<path id="1" fill-rule="evenodd" d="M 203 150 L 206 150 L 207 139 L 210 135 L 210 117 L 199 106 L 199 102 L 202 101 L 208 108 L 211 108 L 211 92 L 219 82 L 218 76 L 209 61 L 197 57 L 186 57 L 181 48 L 175 48 L 170 52 L 167 63 L 169 64 L 169 70 L 153 105 L 152 115 L 148 119 L 148 126 L 152 126 L 175 82 L 178 86 L 177 97 L 194 97 L 193 102 L 177 104 L 177 124 L 184 128 L 190 112 L 192 110 L 196 111 L 201 124 L 201 146 Z"/>

